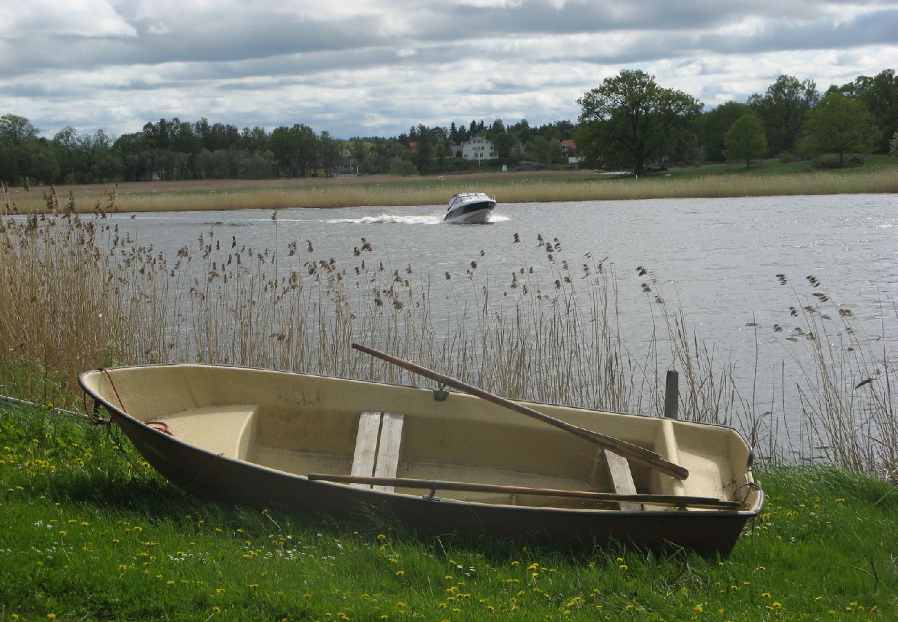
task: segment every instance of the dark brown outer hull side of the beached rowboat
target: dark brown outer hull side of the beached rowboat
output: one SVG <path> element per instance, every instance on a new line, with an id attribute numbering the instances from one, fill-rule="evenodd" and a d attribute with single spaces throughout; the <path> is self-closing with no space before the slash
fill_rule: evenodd
<path id="1" fill-rule="evenodd" d="M 159 367 L 165 366 L 143 369 Z M 139 374 L 139 369 L 129 370 L 138 370 Z M 81 377 L 82 387 L 110 413 L 136 449 L 161 475 L 189 493 L 218 502 L 247 504 L 257 508 L 277 507 L 349 520 L 364 519 L 374 513 L 433 533 L 469 531 L 491 537 L 572 546 L 619 541 L 650 548 L 685 547 L 703 555 L 727 555 L 735 546 L 745 521 L 762 507 L 760 491 L 753 493 L 751 507 L 747 511 L 609 511 L 463 501 L 440 498 L 440 493 L 432 497 L 428 491 L 392 493 L 313 481 L 304 475 L 233 458 L 225 451 L 198 447 L 182 440 L 177 433 L 172 436 L 145 423 L 151 416 L 148 413 L 141 415 L 143 421 L 138 420 L 126 413 L 123 405 L 138 403 L 137 396 L 129 390 L 133 383 L 127 375 L 116 378 L 117 371 L 102 372 L 110 373 L 108 378 L 114 384 L 109 387 L 104 387 L 107 383 L 103 381 L 101 372 L 87 372 Z M 302 376 L 275 373 L 286 377 Z M 354 388 L 365 384 L 352 382 Z M 368 384 L 384 390 L 380 383 Z M 264 387 L 265 383 L 261 386 Z M 418 396 L 422 392 L 431 393 L 410 387 L 386 389 L 388 393 L 392 390 L 413 391 Z M 467 397 L 450 395 L 453 398 Z M 412 395 L 409 400 L 413 401 L 412 398 L 417 399 Z M 301 404 L 311 398 L 309 395 L 295 395 L 291 399 Z M 153 419 L 157 418 L 176 421 L 174 415 L 164 408 L 153 415 Z"/>

